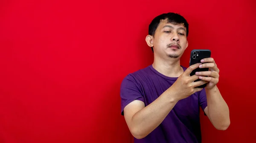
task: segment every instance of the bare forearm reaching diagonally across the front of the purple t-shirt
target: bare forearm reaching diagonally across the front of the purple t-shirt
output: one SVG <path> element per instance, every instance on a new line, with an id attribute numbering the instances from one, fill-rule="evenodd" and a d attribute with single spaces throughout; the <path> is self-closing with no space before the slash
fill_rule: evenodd
<path id="1" fill-rule="evenodd" d="M 164 92 L 155 101 L 141 109 L 132 117 L 132 133 L 136 138 L 143 138 L 162 123 L 177 103 L 170 95 L 172 92 Z"/>

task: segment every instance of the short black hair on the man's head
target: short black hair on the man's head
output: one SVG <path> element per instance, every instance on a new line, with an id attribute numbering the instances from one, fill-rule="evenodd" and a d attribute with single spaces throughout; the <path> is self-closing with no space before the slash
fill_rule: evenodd
<path id="1" fill-rule="evenodd" d="M 186 28 L 186 36 L 189 35 L 189 24 L 186 21 L 186 19 L 180 14 L 176 14 L 172 12 L 161 14 L 155 17 L 148 26 L 149 35 L 154 36 L 155 31 L 157 30 L 157 27 L 161 22 L 161 20 L 167 20 L 168 23 L 172 23 L 172 24 L 184 24 L 184 27 Z M 151 47 L 151 49 L 154 53 L 153 47 Z"/>

